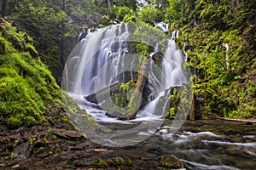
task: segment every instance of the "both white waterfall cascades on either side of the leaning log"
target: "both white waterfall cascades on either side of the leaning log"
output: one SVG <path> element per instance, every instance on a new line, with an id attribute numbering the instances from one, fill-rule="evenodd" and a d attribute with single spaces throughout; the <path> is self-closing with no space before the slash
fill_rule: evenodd
<path id="1" fill-rule="evenodd" d="M 168 29 L 168 26 L 165 25 L 164 27 Z M 129 53 L 130 38 L 129 27 L 123 24 L 88 32 L 88 35 L 79 42 L 67 60 L 66 69 L 71 74 L 66 73 L 66 76 L 63 77 L 64 82 L 66 82 L 64 88 L 68 94 L 82 104 L 81 106 L 91 116 L 95 116 L 97 121 L 101 121 L 101 117 L 105 116 L 104 111 L 96 111 L 95 105 L 91 109 L 88 101 L 84 101 L 85 106 L 81 100 L 85 100 L 84 96 L 108 88 L 113 83 L 127 82 L 125 73 L 119 74 L 119 71 L 125 71 L 127 62 L 130 65 L 126 70 L 130 71 L 130 79 L 134 78 L 133 68 L 138 66 L 137 60 L 135 57 L 130 59 L 124 57 L 125 54 Z M 159 44 L 155 42 L 154 52 L 150 54 L 150 58 L 153 58 L 158 51 Z M 166 89 L 181 86 L 187 81 L 182 68 L 183 54 L 177 48 L 174 40 L 167 41 L 166 50 L 163 54 L 161 69 L 163 76 L 154 74 L 154 61 L 153 59 L 150 61 L 146 76 L 148 77 L 148 87 L 152 91 L 152 95 L 150 95 L 152 99 L 148 99 L 148 105 L 143 110 L 138 111 L 137 114 L 137 117 L 144 117 L 144 120 L 148 120 L 149 116 L 152 118 L 153 115 L 161 116 L 161 114 L 154 114 L 160 97 L 166 95 Z M 101 116 L 98 117 L 99 115 Z"/>

